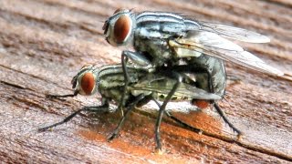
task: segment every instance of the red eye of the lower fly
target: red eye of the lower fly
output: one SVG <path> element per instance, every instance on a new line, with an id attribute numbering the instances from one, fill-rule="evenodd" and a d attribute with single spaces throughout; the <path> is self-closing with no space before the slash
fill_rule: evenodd
<path id="1" fill-rule="evenodd" d="M 95 79 L 92 73 L 85 73 L 81 79 L 81 87 L 86 95 L 91 95 L 95 87 Z"/>

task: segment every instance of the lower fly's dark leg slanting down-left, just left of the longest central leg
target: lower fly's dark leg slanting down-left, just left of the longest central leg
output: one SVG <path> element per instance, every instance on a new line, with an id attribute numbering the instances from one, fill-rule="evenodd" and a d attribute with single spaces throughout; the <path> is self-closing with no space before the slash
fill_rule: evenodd
<path id="1" fill-rule="evenodd" d="M 121 128 L 121 126 L 123 125 L 125 119 L 126 119 L 126 118 L 128 117 L 128 115 L 130 114 L 130 111 L 131 111 L 133 108 L 135 108 L 135 106 L 136 106 L 141 100 L 143 100 L 143 98 L 144 98 L 144 95 L 141 94 L 141 95 L 139 95 L 138 97 L 136 97 L 135 100 L 134 100 L 133 102 L 131 102 L 131 103 L 129 104 L 129 106 L 127 107 L 127 110 L 126 110 L 124 116 L 120 119 L 120 123 L 119 123 L 119 125 L 117 126 L 117 128 L 115 128 L 115 129 L 113 130 L 113 132 L 112 132 L 111 135 L 110 135 L 110 138 L 108 138 L 108 141 L 111 141 L 113 138 L 116 138 L 116 137 L 118 136 L 118 134 L 119 134 L 119 132 L 120 132 L 120 128 Z"/>

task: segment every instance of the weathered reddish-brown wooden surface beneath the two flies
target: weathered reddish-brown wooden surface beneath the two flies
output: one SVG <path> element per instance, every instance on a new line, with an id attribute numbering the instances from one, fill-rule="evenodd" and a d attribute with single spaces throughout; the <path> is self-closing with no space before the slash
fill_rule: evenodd
<path id="1" fill-rule="evenodd" d="M 0 0 L 0 161 L 49 163 L 263 162 L 292 161 L 292 82 L 227 64 L 227 117 L 245 133 L 235 134 L 213 110 L 176 115 L 206 131 L 199 135 L 172 121 L 162 123 L 165 152 L 154 150 L 154 122 L 134 112 L 119 138 L 109 143 L 119 114 L 82 114 L 38 133 L 100 97 L 47 99 L 72 93 L 70 80 L 86 63 L 120 62 L 101 27 L 118 7 L 192 15 L 209 22 L 265 34 L 269 44 L 243 44 L 271 66 L 292 74 L 292 5 L 286 0 Z M 235 80 L 234 80 L 235 79 Z M 151 108 L 146 106 L 144 108 Z"/>

